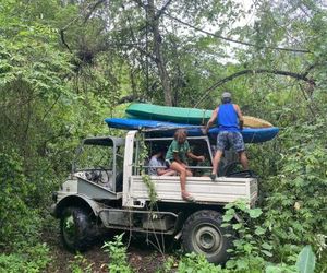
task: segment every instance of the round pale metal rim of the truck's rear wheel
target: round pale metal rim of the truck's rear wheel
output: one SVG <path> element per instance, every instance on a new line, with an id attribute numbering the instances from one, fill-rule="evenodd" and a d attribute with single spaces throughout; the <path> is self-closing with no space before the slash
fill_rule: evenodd
<path id="1" fill-rule="evenodd" d="M 216 226 L 201 224 L 194 228 L 192 241 L 196 252 L 210 257 L 220 252 L 222 237 L 220 230 Z"/>

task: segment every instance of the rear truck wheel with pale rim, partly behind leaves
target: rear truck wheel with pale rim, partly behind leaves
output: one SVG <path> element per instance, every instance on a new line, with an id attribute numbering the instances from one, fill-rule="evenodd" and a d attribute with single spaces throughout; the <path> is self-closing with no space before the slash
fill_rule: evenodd
<path id="1" fill-rule="evenodd" d="M 203 210 L 192 214 L 185 222 L 182 230 L 182 244 L 187 252 L 204 254 L 209 262 L 225 263 L 232 247 L 232 234 L 221 227 L 222 216 L 216 211 Z"/>

